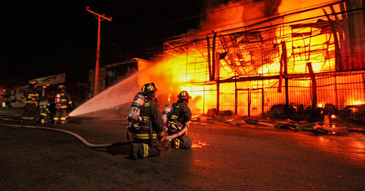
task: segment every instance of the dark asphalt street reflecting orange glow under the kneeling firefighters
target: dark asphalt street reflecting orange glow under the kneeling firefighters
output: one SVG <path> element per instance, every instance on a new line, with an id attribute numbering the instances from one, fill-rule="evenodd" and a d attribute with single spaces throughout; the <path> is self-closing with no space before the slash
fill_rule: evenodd
<path id="1" fill-rule="evenodd" d="M 90 149 L 69 134 L 22 126 L 15 113 L 0 120 L 1 190 L 365 187 L 363 133 L 327 135 L 250 124 L 193 123 L 188 131 L 193 148 L 168 149 L 160 156 L 134 161 L 128 155 Z M 70 117 L 64 125 L 31 125 L 69 131 L 92 144 L 127 141 L 127 123 L 118 114 Z"/>

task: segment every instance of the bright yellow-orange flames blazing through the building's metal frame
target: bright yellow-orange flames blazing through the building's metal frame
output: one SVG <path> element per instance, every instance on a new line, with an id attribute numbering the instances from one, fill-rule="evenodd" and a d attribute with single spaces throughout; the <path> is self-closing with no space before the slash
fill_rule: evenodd
<path id="1" fill-rule="evenodd" d="M 327 20 L 323 15 L 324 11 L 326 11 L 326 13 L 332 13 L 330 7 L 327 6 L 323 7 L 323 9 L 318 8 L 313 9 L 312 11 L 290 15 L 290 13 L 303 9 L 320 7 L 334 2 L 338 1 L 232 1 L 228 4 L 207 10 L 206 19 L 201 23 L 201 28 L 197 32 L 197 35 L 200 35 L 201 37 L 203 34 L 206 34 L 212 37 L 215 31 L 221 31 L 220 35 L 226 35 L 232 33 L 232 31 L 244 31 L 247 29 L 243 26 L 251 26 L 250 28 L 254 28 L 275 25 L 278 23 L 290 23 L 282 24 L 282 26 L 278 25 L 273 27 L 273 30 L 268 30 L 268 33 L 263 34 L 263 38 L 271 39 L 270 42 L 267 41 L 252 44 L 252 46 L 241 47 L 239 55 L 237 54 L 237 51 L 222 49 L 222 47 L 220 47 L 222 44 L 217 45 L 218 48 L 221 48 L 220 50 L 216 50 L 220 51 L 217 53 L 224 53 L 223 51 L 227 51 L 228 54 L 226 57 L 230 57 L 230 59 L 223 58 L 218 61 L 218 66 L 220 67 L 218 76 L 221 80 L 244 75 L 250 77 L 278 75 L 280 72 L 283 74 L 283 71 L 281 71 L 282 60 L 280 58 L 283 52 L 281 42 L 284 42 L 287 47 L 287 74 L 308 74 L 308 62 L 312 64 L 314 73 L 335 72 L 335 43 L 331 29 L 327 27 L 326 31 L 323 28 L 310 24 L 293 27 L 294 25 L 302 24 L 303 21 L 298 20 L 305 18 L 313 18 L 312 20 L 307 20 L 306 23 L 318 22 L 320 21 L 319 18 L 324 21 Z M 340 12 L 338 4 L 334 4 L 333 9 L 335 12 Z M 279 15 L 290 16 L 282 17 L 282 19 L 279 20 L 263 22 L 261 25 L 254 25 L 254 23 L 260 23 L 263 20 Z M 341 15 L 337 16 L 339 20 L 342 19 Z M 330 17 L 332 20 L 335 20 L 334 16 Z M 328 21 L 326 23 L 328 23 Z M 232 28 L 234 28 L 234 30 L 229 30 Z M 337 33 L 336 35 L 337 38 L 339 38 L 342 34 Z M 217 40 L 223 41 L 223 38 L 224 37 L 217 37 Z M 186 41 L 184 42 L 186 43 Z M 254 116 L 267 112 L 273 105 L 283 104 L 279 102 L 279 100 L 285 100 L 285 94 L 277 93 L 278 80 L 252 80 L 236 84 L 222 83 L 217 87 L 213 81 L 209 80 L 207 49 L 189 42 L 182 46 L 184 46 L 184 53 L 179 54 L 170 52 L 170 56 L 167 56 L 166 58 L 169 66 L 174 66 L 173 69 L 171 69 L 172 84 L 176 84 L 174 86 L 178 86 L 182 90 L 189 91 L 193 98 L 202 98 L 196 101 L 193 112 L 207 113 L 209 109 L 216 108 L 217 102 L 219 102 L 221 111 L 236 110 L 240 115 L 247 115 L 248 112 L 250 112 L 251 116 Z M 206 46 L 206 43 L 204 46 Z M 256 48 L 254 46 L 257 46 L 257 49 L 262 47 L 275 48 L 268 48 L 270 49 L 268 53 L 272 55 L 265 55 L 265 58 L 262 58 L 263 54 L 254 54 Z M 210 60 L 212 60 L 213 56 L 210 56 Z M 235 58 L 234 61 L 232 57 Z M 233 62 L 236 63 L 233 64 Z M 254 63 L 260 64 L 255 66 Z M 345 78 L 341 77 L 326 80 L 337 80 L 336 83 L 342 83 L 343 79 L 345 82 Z M 319 85 L 320 83 L 321 79 L 318 80 Z M 312 87 L 312 83 L 309 78 L 291 80 L 290 86 L 293 86 L 290 92 L 291 95 L 297 98 L 297 100 L 292 103 L 294 107 L 300 104 L 306 106 L 311 105 L 312 95 L 308 89 Z M 217 98 L 217 88 L 220 88 L 220 98 Z M 263 93 L 263 88 L 266 88 L 265 93 Z M 334 95 L 325 93 L 322 93 L 323 95 L 318 101 L 330 103 L 331 100 L 334 99 Z M 340 100 L 340 104 L 355 104 L 355 97 L 348 96 L 348 98 L 349 99 Z M 249 110 L 247 107 L 249 107 Z"/>

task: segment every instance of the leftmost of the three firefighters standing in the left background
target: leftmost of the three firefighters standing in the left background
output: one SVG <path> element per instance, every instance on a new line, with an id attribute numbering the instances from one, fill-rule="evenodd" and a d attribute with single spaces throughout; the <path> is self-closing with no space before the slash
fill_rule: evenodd
<path id="1" fill-rule="evenodd" d="M 39 121 L 39 94 L 37 90 L 36 81 L 30 81 L 29 86 L 24 90 L 24 98 L 26 98 L 26 105 L 24 109 L 24 114 L 22 116 L 21 122 L 35 123 Z"/>

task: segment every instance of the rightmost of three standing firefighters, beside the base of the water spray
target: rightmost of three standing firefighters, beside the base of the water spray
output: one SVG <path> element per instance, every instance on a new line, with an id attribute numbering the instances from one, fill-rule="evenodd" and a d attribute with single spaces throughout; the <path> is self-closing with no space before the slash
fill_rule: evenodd
<path id="1" fill-rule="evenodd" d="M 58 92 L 55 94 L 55 109 L 56 113 L 53 116 L 53 123 L 61 124 L 66 123 L 67 107 L 72 107 L 72 101 L 69 94 L 66 92 L 66 87 L 64 85 L 58 86 Z"/>

